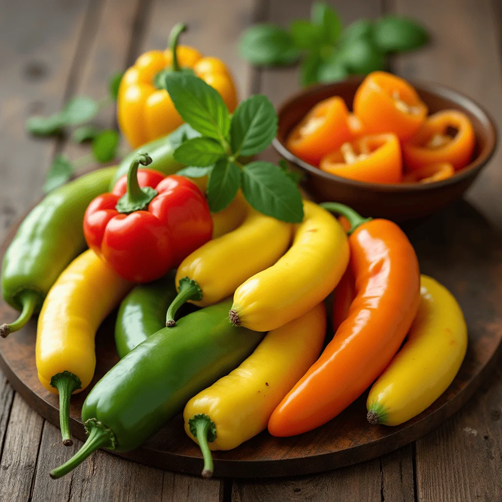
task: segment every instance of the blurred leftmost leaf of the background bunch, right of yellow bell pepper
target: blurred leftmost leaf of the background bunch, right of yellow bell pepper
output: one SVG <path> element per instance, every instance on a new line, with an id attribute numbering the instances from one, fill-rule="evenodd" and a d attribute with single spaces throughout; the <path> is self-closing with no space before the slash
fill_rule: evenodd
<path id="1" fill-rule="evenodd" d="M 270 24 L 248 28 L 240 39 L 239 51 L 255 66 L 291 65 L 300 57 L 291 34 Z"/>

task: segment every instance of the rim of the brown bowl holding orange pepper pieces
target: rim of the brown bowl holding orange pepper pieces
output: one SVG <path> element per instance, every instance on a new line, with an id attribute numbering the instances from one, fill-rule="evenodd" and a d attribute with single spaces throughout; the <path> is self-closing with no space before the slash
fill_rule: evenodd
<path id="1" fill-rule="evenodd" d="M 360 83 L 364 79 L 361 75 L 352 75 L 344 80 L 333 83 L 321 83 L 315 84 L 307 87 L 306 89 L 301 89 L 289 98 L 285 99 L 278 107 L 279 120 L 285 109 L 295 104 L 299 99 L 311 94 L 317 94 L 321 90 L 333 87 L 336 88 L 339 85 L 345 83 Z M 431 94 L 436 94 L 439 97 L 449 99 L 450 101 L 455 101 L 461 108 L 469 111 L 471 114 L 475 115 L 478 120 L 483 124 L 484 129 L 487 133 L 487 141 L 485 148 L 480 152 L 480 154 L 470 162 L 466 167 L 457 171 L 453 176 L 445 180 L 433 181 L 431 183 L 369 183 L 367 181 L 351 180 L 349 178 L 342 178 L 341 176 L 336 176 L 334 174 L 326 173 L 321 171 L 318 167 L 312 166 L 308 162 L 300 159 L 293 153 L 291 153 L 283 143 L 276 136 L 272 141 L 272 146 L 276 151 L 290 162 L 298 165 L 305 171 L 326 179 L 327 181 L 336 181 L 343 185 L 352 186 L 356 188 L 371 188 L 372 190 L 379 192 L 407 192 L 407 191 L 428 191 L 431 189 L 439 189 L 444 186 L 448 186 L 455 183 L 460 183 L 462 180 L 475 175 L 476 171 L 479 171 L 486 163 L 490 160 L 498 144 L 498 135 L 495 123 L 491 115 L 481 106 L 477 101 L 470 98 L 466 94 L 459 92 L 451 87 L 435 82 L 427 82 L 423 80 L 410 79 L 407 80 L 409 83 L 417 89 L 417 91 L 424 91 Z M 336 94 L 333 94 L 336 95 Z"/>

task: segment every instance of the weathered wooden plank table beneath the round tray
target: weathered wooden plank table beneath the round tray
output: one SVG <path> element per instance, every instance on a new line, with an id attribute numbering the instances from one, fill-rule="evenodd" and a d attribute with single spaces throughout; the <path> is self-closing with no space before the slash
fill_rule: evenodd
<path id="1" fill-rule="evenodd" d="M 392 69 L 463 91 L 502 126 L 502 7 L 498 0 L 350 0 L 333 2 L 346 23 L 386 12 L 421 20 L 432 44 L 395 58 Z M 71 96 L 106 94 L 106 78 L 143 51 L 164 48 L 170 28 L 189 25 L 183 43 L 230 66 L 241 96 L 263 92 L 274 104 L 297 88 L 296 69 L 255 70 L 235 42 L 255 21 L 287 24 L 308 15 L 310 0 L 0 0 L 0 237 L 41 195 L 51 159 L 83 150 L 68 139 L 35 140 L 33 113 L 59 110 Z M 111 109 L 99 122 L 112 126 Z M 502 228 L 502 154 L 467 194 Z M 502 266 L 502 263 L 501 263 Z M 498 299 L 496 301 L 500 301 Z M 502 319 L 497 323 L 502 329 Z M 283 479 L 212 479 L 139 465 L 104 451 L 53 481 L 69 457 L 60 432 L 32 411 L 0 375 L 0 500 L 438 501 L 502 499 L 502 369 L 452 419 L 394 453 L 319 475 Z M 73 451 L 81 443 L 76 441 Z"/>

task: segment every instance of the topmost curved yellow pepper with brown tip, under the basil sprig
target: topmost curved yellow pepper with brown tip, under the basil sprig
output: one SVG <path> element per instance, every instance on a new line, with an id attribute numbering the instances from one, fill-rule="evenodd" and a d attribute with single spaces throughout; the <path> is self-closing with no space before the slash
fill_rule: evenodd
<path id="1" fill-rule="evenodd" d="M 340 223 L 314 202 L 304 201 L 305 218 L 293 244 L 272 267 L 250 277 L 233 295 L 230 320 L 269 331 L 301 316 L 324 300 L 348 265 L 347 236 Z"/>

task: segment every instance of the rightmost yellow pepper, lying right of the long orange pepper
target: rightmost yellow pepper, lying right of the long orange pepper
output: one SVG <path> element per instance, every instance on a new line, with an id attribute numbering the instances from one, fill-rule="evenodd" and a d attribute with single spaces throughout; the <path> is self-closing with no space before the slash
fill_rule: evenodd
<path id="1" fill-rule="evenodd" d="M 408 341 L 373 384 L 368 421 L 399 425 L 422 413 L 453 382 L 467 350 L 467 326 L 453 295 L 421 276 L 420 306 Z"/>

